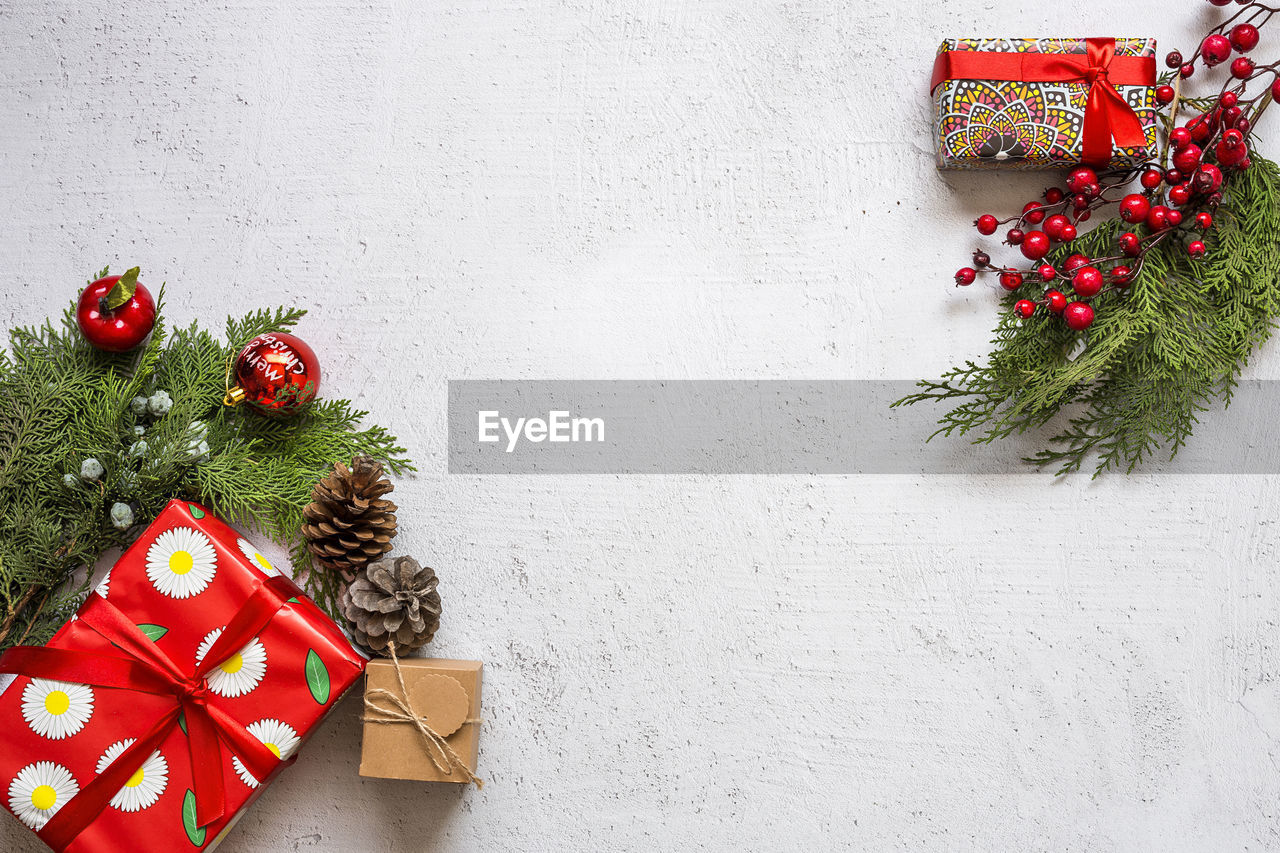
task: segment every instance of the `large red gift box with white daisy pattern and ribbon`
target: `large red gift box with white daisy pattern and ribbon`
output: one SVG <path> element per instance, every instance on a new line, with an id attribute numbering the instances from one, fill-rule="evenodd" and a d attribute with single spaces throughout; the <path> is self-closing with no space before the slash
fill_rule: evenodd
<path id="1" fill-rule="evenodd" d="M 250 626 L 246 611 L 255 607 L 261 624 Z M 111 624 L 128 642 L 109 639 L 104 625 Z M 227 630 L 228 642 L 252 635 L 238 651 L 215 652 L 221 661 L 206 661 Z M 142 662 L 119 662 L 131 643 L 147 652 Z M 338 626 L 248 539 L 186 501 L 164 508 L 46 647 L 10 649 L 0 662 L 61 671 L 59 656 L 78 656 L 74 671 L 90 672 L 88 683 L 0 676 L 9 680 L 0 692 L 0 793 L 46 844 L 70 853 L 211 850 L 365 666 Z M 146 663 L 152 658 L 159 663 Z M 35 666 L 41 662 L 45 669 Z M 170 663 L 174 672 L 164 678 L 143 671 Z M 123 678 L 115 670 L 131 672 L 138 688 L 102 686 Z M 188 686 L 180 686 L 184 678 Z M 179 686 L 165 694 L 155 686 L 161 683 Z M 218 740 L 198 739 L 201 731 L 216 731 Z M 145 743 L 125 756 L 140 738 Z M 242 761 L 232 748 L 237 739 L 259 757 Z M 196 749 L 193 762 L 192 743 L 211 748 Z M 124 763 L 109 771 L 122 756 Z M 246 766 L 255 761 L 265 767 L 261 779 Z M 125 765 L 132 775 L 123 775 Z M 86 790 L 104 772 L 110 784 Z M 88 799 L 55 821 L 82 792 Z M 110 799 L 86 809 L 92 793 Z M 201 824 L 211 799 L 221 813 Z"/>

